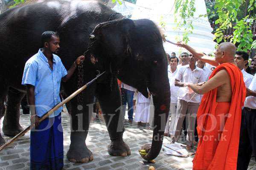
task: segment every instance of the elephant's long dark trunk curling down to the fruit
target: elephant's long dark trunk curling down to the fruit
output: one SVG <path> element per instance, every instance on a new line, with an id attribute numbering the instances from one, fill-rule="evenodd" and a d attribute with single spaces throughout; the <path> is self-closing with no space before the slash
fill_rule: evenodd
<path id="1" fill-rule="evenodd" d="M 147 161 L 155 159 L 161 151 L 163 144 L 164 130 L 170 109 L 170 85 L 167 71 L 163 77 L 155 79 L 154 85 L 151 85 L 151 93 L 154 102 L 154 131 L 151 149 L 143 158 Z M 153 88 L 152 88 L 153 87 Z"/>

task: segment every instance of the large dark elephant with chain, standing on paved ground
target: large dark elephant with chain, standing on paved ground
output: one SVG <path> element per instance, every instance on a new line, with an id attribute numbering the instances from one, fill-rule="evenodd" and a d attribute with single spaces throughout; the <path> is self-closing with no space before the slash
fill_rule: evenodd
<path id="1" fill-rule="evenodd" d="M 14 136 L 23 130 L 19 124 L 19 106 L 26 92 L 21 85 L 24 65 L 41 48 L 41 34 L 58 31 L 58 56 L 65 68 L 69 69 L 76 57 L 85 52 L 81 67 L 68 82 L 61 83 L 65 96 L 95 78 L 98 71 L 106 71 L 70 101 L 71 143 L 67 158 L 82 163 L 93 160 L 85 139 L 94 96 L 99 101 L 111 139 L 108 153 L 111 156 L 131 154 L 122 139 L 124 116 L 117 78 L 146 97 L 147 88 L 151 92 L 155 128 L 151 148 L 143 159 L 157 157 L 169 113 L 170 86 L 163 39 L 154 22 L 125 18 L 95 0 L 46 0 L 5 11 L 0 15 L 0 24 L 0 118 L 5 113 L 4 134 Z M 10 88 L 18 92 L 9 91 Z M 0 143 L 4 143 L 2 136 Z"/>

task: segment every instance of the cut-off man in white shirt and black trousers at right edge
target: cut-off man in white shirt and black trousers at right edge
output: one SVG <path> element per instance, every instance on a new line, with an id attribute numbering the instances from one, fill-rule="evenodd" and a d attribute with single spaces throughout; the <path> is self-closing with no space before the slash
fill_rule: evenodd
<path id="1" fill-rule="evenodd" d="M 251 155 L 256 156 L 256 77 L 246 91 L 244 108 L 242 109 L 241 130 L 237 170 L 247 170 Z"/>

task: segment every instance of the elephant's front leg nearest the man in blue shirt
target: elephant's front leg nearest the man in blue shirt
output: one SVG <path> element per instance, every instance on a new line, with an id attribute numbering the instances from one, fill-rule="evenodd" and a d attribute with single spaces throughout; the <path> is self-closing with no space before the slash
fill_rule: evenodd
<path id="1" fill-rule="evenodd" d="M 67 152 L 67 159 L 72 162 L 87 163 L 93 160 L 93 153 L 87 148 L 85 140 L 93 112 L 93 95 L 90 93 L 94 89 L 88 88 L 84 91 L 83 113 L 79 113 L 79 106 L 76 101 L 71 102 L 71 143 Z"/>

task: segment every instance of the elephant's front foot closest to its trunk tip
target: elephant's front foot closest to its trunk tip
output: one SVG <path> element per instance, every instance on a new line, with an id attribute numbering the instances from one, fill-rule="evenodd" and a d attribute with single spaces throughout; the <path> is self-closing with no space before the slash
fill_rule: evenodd
<path id="1" fill-rule="evenodd" d="M 131 150 L 122 139 L 115 139 L 108 145 L 108 153 L 111 156 L 128 156 Z"/>

